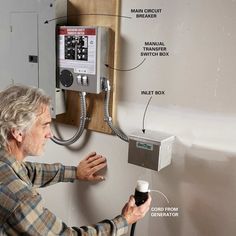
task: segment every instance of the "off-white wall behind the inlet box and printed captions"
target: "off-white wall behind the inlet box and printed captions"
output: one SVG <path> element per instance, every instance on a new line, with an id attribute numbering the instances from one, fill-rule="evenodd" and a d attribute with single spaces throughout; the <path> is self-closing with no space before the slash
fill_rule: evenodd
<path id="1" fill-rule="evenodd" d="M 154 19 L 136 19 L 132 8 L 161 8 Z M 131 68 L 143 57 L 145 41 L 165 42 L 168 57 L 148 57 L 142 66 L 118 73 L 117 119 L 130 133 L 142 128 L 176 135 L 171 166 L 159 173 L 127 163 L 128 144 L 87 132 L 71 148 L 50 142 L 40 161 L 76 164 L 96 150 L 108 159 L 106 181 L 59 184 L 43 189 L 45 204 L 69 225 L 97 222 L 118 214 L 137 179 L 150 182 L 152 207 L 178 208 L 177 217 L 154 217 L 136 227 L 136 236 L 236 235 L 236 1 L 122 1 L 121 63 Z M 66 137 L 73 127 L 61 127 Z"/>

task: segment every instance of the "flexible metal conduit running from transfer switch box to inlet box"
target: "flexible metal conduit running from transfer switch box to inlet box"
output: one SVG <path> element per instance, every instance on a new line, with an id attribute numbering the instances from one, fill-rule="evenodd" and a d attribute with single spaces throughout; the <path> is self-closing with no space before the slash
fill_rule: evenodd
<path id="1" fill-rule="evenodd" d="M 112 123 L 112 117 L 109 115 L 109 101 L 110 101 L 110 91 L 111 86 L 108 79 L 103 79 L 103 90 L 105 92 L 105 98 L 104 98 L 104 121 L 107 122 L 111 130 L 123 141 L 129 142 L 129 138 L 127 135 L 120 130 L 119 128 L 115 127 Z"/>

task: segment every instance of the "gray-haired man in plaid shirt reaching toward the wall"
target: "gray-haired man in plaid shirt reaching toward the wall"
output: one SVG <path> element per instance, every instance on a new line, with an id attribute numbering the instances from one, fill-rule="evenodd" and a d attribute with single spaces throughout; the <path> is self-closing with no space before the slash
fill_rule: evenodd
<path id="1" fill-rule="evenodd" d="M 97 171 L 106 159 L 90 153 L 77 167 L 25 162 L 38 156 L 52 137 L 50 99 L 43 91 L 11 86 L 0 93 L 0 235 L 123 235 L 129 224 L 147 213 L 151 197 L 141 206 L 134 198 L 122 214 L 93 226 L 69 227 L 42 205 L 37 187 L 58 182 L 101 180 Z"/>

